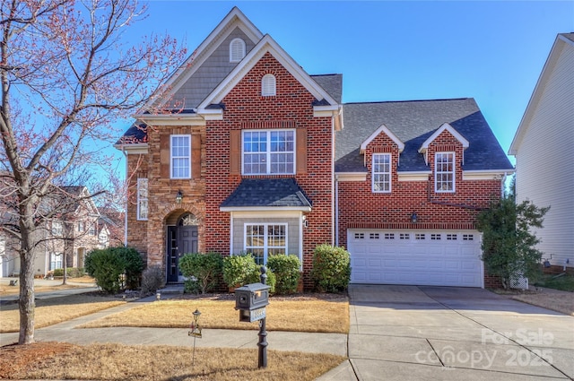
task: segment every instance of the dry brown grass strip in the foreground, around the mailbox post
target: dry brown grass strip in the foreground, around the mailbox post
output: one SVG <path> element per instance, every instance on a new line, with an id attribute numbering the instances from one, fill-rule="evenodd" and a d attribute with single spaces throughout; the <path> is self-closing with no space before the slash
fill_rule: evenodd
<path id="1" fill-rule="evenodd" d="M 30 356 L 24 351 L 30 351 Z M 0 378 L 305 381 L 345 359 L 330 354 L 267 351 L 267 368 L 258 369 L 257 350 L 197 348 L 193 366 L 192 356 L 193 349 L 187 347 L 39 342 L 2 347 Z"/>

